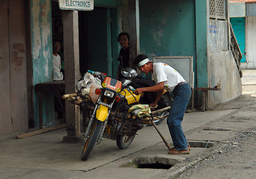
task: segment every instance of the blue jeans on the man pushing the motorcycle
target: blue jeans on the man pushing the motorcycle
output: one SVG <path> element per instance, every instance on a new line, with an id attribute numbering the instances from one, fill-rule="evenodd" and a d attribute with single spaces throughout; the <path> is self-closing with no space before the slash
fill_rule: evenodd
<path id="1" fill-rule="evenodd" d="M 174 98 L 171 104 L 171 110 L 167 118 L 167 125 L 171 134 L 174 148 L 179 151 L 188 150 L 188 142 L 181 128 L 181 122 L 186 111 L 186 106 L 189 104 L 191 96 L 191 89 L 189 84 L 182 84 L 179 87 L 175 87 Z"/>

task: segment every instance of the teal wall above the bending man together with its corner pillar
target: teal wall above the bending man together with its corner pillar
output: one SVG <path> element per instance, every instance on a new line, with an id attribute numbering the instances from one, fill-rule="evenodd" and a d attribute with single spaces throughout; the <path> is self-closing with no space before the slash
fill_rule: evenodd
<path id="1" fill-rule="evenodd" d="M 140 50 L 152 56 L 194 57 L 194 87 L 207 87 L 208 2 L 140 1 Z M 198 92 L 201 103 L 201 92 Z"/>

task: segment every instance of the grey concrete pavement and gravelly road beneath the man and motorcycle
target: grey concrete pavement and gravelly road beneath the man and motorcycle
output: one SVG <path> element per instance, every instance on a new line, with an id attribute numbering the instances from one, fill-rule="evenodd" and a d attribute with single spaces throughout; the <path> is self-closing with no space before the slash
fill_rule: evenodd
<path id="1" fill-rule="evenodd" d="M 121 150 L 115 141 L 104 138 L 82 161 L 84 142 L 63 142 L 67 132 L 62 128 L 23 139 L 0 136 L 0 178 L 255 179 L 255 74 L 244 72 L 243 95 L 234 101 L 185 114 L 183 131 L 192 146 L 188 155 L 168 154 L 156 130 L 147 126 L 129 148 Z M 172 146 L 166 120 L 157 127 Z"/>

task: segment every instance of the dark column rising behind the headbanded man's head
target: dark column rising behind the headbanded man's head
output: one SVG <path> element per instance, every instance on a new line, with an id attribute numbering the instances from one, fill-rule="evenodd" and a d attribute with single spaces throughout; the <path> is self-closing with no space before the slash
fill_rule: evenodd
<path id="1" fill-rule="evenodd" d="M 133 66 L 135 57 L 139 54 L 139 8 L 138 0 L 129 0 L 129 62 Z"/>

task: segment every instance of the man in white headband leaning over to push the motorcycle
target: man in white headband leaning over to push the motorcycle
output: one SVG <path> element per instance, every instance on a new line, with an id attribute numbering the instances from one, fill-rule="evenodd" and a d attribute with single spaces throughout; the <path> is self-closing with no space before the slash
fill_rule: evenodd
<path id="1" fill-rule="evenodd" d="M 142 92 L 157 92 L 155 101 L 151 103 L 150 106 L 156 106 L 164 90 L 173 92 L 174 97 L 167 118 L 167 124 L 171 139 L 174 143 L 174 148 L 171 148 L 168 154 L 189 154 L 190 146 L 186 141 L 181 127 L 186 106 L 189 104 L 191 96 L 189 84 L 187 84 L 180 73 L 171 66 L 165 63 L 152 63 L 144 54 L 139 54 L 135 57 L 134 64 L 145 74 L 151 72 L 153 80 L 156 82 L 156 85 L 153 87 L 141 87 L 135 90 L 136 95 Z"/>

